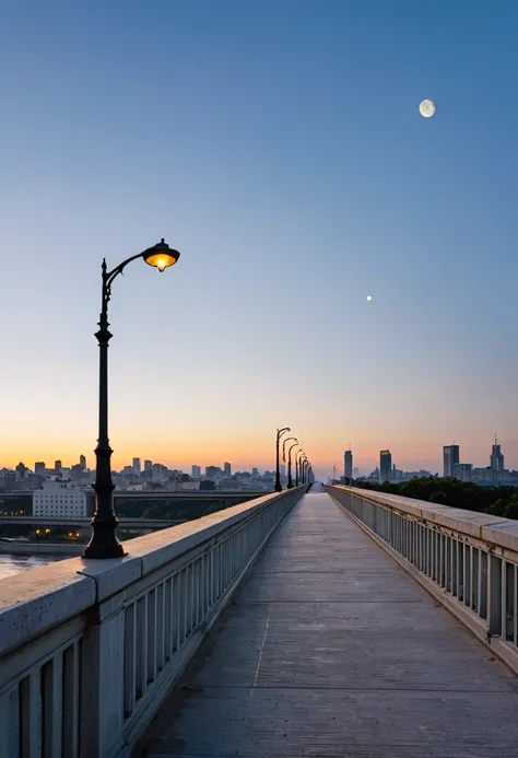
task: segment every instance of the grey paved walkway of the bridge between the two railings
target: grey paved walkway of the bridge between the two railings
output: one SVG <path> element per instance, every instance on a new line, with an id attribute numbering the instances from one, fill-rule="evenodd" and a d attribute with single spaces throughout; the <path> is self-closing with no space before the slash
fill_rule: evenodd
<path id="1" fill-rule="evenodd" d="M 328 494 L 274 533 L 140 755 L 517 758 L 518 681 Z"/>

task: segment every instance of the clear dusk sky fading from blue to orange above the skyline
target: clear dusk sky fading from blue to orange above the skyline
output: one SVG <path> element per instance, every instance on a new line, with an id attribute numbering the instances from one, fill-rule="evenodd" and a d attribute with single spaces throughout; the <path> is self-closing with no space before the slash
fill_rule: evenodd
<path id="1" fill-rule="evenodd" d="M 4 0 L 0 466 L 518 468 L 518 3 Z M 437 115 L 424 119 L 425 97 Z M 373 300 L 367 303 L 367 295 Z"/>

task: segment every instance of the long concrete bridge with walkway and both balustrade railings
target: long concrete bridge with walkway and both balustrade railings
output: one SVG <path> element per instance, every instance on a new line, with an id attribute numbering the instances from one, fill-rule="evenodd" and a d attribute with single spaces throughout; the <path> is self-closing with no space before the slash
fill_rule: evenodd
<path id="1" fill-rule="evenodd" d="M 0 584 L 0 755 L 516 758 L 518 523 L 326 489 Z"/>

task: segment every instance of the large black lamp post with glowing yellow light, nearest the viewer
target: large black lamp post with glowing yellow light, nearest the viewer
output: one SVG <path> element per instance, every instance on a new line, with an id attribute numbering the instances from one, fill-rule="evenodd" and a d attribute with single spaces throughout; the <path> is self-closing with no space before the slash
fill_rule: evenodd
<path id="1" fill-rule="evenodd" d="M 127 258 L 111 271 L 107 270 L 106 259 L 102 266 L 102 298 L 99 329 L 95 337 L 99 346 L 99 416 L 98 439 L 95 448 L 95 514 L 92 518 L 92 538 L 84 549 L 85 558 L 120 558 L 125 555 L 122 545 L 115 534 L 118 520 L 114 510 L 114 482 L 111 480 L 111 453 L 108 439 L 108 342 L 111 334 L 108 330 L 108 303 L 111 298 L 111 283 L 132 260 L 143 258 L 150 266 L 164 271 L 174 266 L 180 254 L 172 249 L 164 240 Z"/>

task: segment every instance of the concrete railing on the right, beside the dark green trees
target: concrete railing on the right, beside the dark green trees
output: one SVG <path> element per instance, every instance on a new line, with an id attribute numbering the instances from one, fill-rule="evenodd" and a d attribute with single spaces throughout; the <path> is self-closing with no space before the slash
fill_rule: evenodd
<path id="1" fill-rule="evenodd" d="M 518 673 L 518 522 L 351 487 L 327 492 Z"/>

